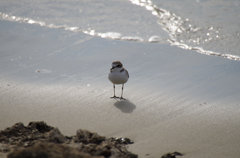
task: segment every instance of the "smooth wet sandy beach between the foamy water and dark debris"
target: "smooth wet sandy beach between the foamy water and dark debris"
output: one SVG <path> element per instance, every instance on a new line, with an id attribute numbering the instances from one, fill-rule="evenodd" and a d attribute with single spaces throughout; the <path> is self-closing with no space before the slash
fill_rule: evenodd
<path id="1" fill-rule="evenodd" d="M 0 37 L 0 130 L 42 120 L 128 137 L 140 158 L 240 156 L 239 61 L 4 20 Z M 110 99 L 113 60 L 130 74 L 125 101 Z"/>

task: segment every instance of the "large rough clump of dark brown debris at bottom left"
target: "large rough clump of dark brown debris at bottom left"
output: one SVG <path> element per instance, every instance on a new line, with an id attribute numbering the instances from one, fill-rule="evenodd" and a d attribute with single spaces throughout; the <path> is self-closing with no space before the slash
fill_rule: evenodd
<path id="1" fill-rule="evenodd" d="M 87 130 L 64 136 L 45 122 L 16 123 L 0 131 L 0 152 L 8 158 L 137 158 L 128 138 L 106 138 Z"/>

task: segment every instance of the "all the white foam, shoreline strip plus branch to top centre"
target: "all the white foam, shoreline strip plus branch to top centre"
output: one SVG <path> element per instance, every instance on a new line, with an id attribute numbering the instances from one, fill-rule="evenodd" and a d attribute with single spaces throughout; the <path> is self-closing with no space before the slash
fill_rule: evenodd
<path id="1" fill-rule="evenodd" d="M 159 24 L 162 26 L 163 30 L 167 31 L 169 33 L 170 39 L 168 42 L 171 45 L 177 46 L 182 49 L 188 49 L 193 50 L 201 54 L 205 55 L 213 55 L 213 56 L 219 56 L 223 58 L 227 58 L 230 60 L 237 60 L 240 61 L 240 57 L 236 55 L 231 54 L 222 54 L 214 51 L 205 50 L 201 47 L 196 46 L 190 46 L 188 44 L 179 42 L 177 39 L 177 36 L 184 31 L 186 31 L 186 27 L 184 27 L 184 21 L 176 16 L 175 14 L 172 14 L 166 10 L 159 9 L 157 6 L 153 5 L 150 0 L 130 0 L 133 4 L 145 7 L 147 10 L 151 11 L 154 16 L 158 16 L 161 20 L 159 21 Z M 0 12 L 0 19 L 6 20 L 6 21 L 12 21 L 12 22 L 19 22 L 19 23 L 27 23 L 31 25 L 38 25 L 41 27 L 47 27 L 51 29 L 63 29 L 65 31 L 71 31 L 71 32 L 81 32 L 90 36 L 100 37 L 100 38 L 106 38 L 106 39 L 113 39 L 113 40 L 124 40 L 124 41 L 137 41 L 137 42 L 150 42 L 150 43 L 161 43 L 162 40 L 159 36 L 151 36 L 149 39 L 144 40 L 142 37 L 138 36 L 125 36 L 118 32 L 97 32 L 94 29 L 88 28 L 88 29 L 82 29 L 80 27 L 76 26 L 68 26 L 68 25 L 55 25 L 51 23 L 46 23 L 44 21 L 34 20 L 27 17 L 19 17 L 14 15 L 9 15 L 6 13 Z M 199 28 L 189 26 L 187 28 L 188 31 L 197 31 Z"/>

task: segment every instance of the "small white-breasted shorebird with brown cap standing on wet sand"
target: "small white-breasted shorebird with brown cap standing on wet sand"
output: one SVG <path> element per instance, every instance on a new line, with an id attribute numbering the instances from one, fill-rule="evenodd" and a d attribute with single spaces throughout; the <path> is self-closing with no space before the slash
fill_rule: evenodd
<path id="1" fill-rule="evenodd" d="M 110 73 L 108 75 L 108 79 L 113 83 L 113 92 L 114 95 L 111 98 L 118 98 L 115 95 L 115 84 L 122 85 L 122 93 L 120 99 L 124 99 L 123 96 L 123 88 L 124 84 L 127 82 L 129 78 L 128 71 L 123 68 L 123 65 L 120 61 L 113 61 L 112 68 L 110 69 Z"/>

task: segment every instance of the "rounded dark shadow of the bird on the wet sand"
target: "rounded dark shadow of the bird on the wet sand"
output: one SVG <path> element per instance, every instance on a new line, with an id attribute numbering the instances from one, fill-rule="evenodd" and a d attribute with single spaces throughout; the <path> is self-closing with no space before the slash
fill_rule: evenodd
<path id="1" fill-rule="evenodd" d="M 136 105 L 127 99 L 121 99 L 114 103 L 114 106 L 124 113 L 132 113 Z"/>

